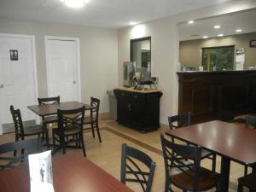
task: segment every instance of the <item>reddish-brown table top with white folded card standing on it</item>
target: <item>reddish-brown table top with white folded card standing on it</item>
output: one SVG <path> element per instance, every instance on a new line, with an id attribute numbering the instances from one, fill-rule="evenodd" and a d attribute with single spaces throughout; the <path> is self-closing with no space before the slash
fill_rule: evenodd
<path id="1" fill-rule="evenodd" d="M 131 192 L 81 154 L 59 155 L 53 158 L 53 181 L 55 192 Z M 0 172 L 0 192 L 29 192 L 27 165 Z"/>

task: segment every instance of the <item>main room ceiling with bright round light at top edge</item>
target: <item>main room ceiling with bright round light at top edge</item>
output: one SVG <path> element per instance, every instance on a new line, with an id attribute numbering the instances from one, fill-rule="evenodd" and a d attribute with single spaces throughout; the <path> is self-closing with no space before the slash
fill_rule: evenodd
<path id="1" fill-rule="evenodd" d="M 0 0 L 0 18 L 120 28 L 235 0 L 90 0 L 67 8 L 60 0 Z"/>

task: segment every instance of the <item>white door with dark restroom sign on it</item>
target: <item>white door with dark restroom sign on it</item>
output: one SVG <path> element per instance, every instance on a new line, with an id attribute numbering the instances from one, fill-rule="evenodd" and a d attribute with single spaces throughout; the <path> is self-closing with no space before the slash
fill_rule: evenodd
<path id="1" fill-rule="evenodd" d="M 34 42 L 31 36 L 0 34 L 0 134 L 13 123 L 9 106 L 20 108 L 24 121 L 35 119 L 27 109 L 36 103 Z M 12 56 L 13 57 L 11 59 Z"/>

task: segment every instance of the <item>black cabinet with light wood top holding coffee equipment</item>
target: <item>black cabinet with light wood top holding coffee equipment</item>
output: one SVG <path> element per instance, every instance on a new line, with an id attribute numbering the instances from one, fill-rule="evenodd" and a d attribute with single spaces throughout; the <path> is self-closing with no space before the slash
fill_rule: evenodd
<path id="1" fill-rule="evenodd" d="M 139 131 L 160 127 L 160 90 L 113 90 L 117 99 L 117 122 Z"/>

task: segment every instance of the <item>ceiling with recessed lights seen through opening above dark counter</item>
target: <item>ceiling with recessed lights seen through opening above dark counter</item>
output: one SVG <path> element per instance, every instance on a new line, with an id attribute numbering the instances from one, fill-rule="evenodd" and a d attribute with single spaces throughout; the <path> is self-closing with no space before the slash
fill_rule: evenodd
<path id="1" fill-rule="evenodd" d="M 256 32 L 256 10 L 239 12 L 236 14 L 213 17 L 206 20 L 195 20 L 194 24 L 182 23 L 179 25 L 180 40 L 199 39 L 203 36 L 216 38 L 222 33 L 224 36 L 239 34 L 236 29 L 242 29 L 240 33 Z M 221 28 L 214 29 L 219 25 Z M 256 38 L 256 37 L 255 37 Z"/>

